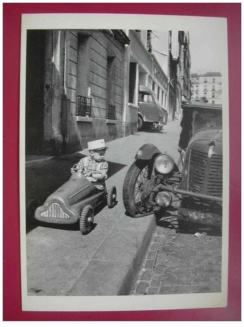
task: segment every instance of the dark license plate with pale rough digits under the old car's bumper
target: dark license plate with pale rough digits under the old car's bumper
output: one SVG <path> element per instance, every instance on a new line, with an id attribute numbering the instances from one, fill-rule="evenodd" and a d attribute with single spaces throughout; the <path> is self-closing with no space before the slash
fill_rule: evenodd
<path id="1" fill-rule="evenodd" d="M 213 213 L 204 213 L 186 208 L 178 209 L 178 220 L 196 222 L 205 225 L 222 226 L 222 217 Z"/>

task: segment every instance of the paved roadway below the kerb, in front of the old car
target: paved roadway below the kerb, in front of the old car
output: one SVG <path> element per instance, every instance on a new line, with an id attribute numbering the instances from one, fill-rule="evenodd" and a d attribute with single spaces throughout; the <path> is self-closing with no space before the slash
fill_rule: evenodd
<path id="1" fill-rule="evenodd" d="M 130 295 L 221 292 L 221 241 L 158 226 Z"/>

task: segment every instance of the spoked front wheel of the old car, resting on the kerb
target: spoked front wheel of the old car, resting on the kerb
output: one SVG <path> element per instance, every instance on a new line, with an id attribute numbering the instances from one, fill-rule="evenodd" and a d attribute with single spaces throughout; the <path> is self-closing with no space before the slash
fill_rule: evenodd
<path id="1" fill-rule="evenodd" d="M 145 182 L 151 174 L 152 164 L 148 160 L 135 161 L 128 170 L 123 185 L 123 202 L 126 213 L 131 217 L 145 214 L 147 210 L 141 201 Z"/>

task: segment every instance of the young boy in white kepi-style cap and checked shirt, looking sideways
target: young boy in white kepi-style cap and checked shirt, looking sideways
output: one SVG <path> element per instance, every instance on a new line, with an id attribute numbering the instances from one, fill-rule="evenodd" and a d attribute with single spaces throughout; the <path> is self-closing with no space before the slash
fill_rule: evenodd
<path id="1" fill-rule="evenodd" d="M 84 166 L 79 166 L 78 163 L 78 172 L 82 173 L 88 181 L 94 182 L 97 188 L 103 189 L 104 186 L 102 184 L 104 184 L 104 180 L 108 177 L 108 163 L 104 160 L 107 146 L 105 146 L 104 139 L 101 139 L 87 142 L 87 147 L 90 155 L 79 161 L 79 163 L 87 167 L 87 170 Z M 74 172 L 75 169 L 71 168 L 71 173 L 73 174 Z"/>

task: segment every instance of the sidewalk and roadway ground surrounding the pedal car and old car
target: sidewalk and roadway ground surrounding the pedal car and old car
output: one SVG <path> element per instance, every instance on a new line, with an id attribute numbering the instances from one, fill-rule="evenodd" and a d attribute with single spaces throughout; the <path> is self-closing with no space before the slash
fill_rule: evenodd
<path id="1" fill-rule="evenodd" d="M 220 290 L 221 237 L 196 238 L 192 234 L 177 234 L 176 215 L 157 218 L 156 229 L 154 216 L 150 216 L 154 224 L 150 225 L 149 216 L 133 219 L 125 215 L 123 181 L 138 148 L 153 143 L 161 151 L 169 152 L 177 163 L 180 131 L 179 121 L 174 121 L 160 132 L 142 131 L 107 143 L 109 172 L 106 184 L 116 186 L 118 202 L 113 209 L 105 206 L 95 212 L 94 229 L 88 235 L 82 235 L 77 225 L 37 225 L 33 222 L 27 226 L 29 295 L 129 294 L 115 279 L 107 281 L 107 273 L 114 271 L 113 276 L 121 275 L 131 290 L 130 276 L 133 271 L 137 273 L 148 243 L 131 294 Z M 36 198 L 42 204 L 69 179 L 70 167 L 84 155 L 87 150 L 26 168 L 26 199 Z M 145 244 L 145 249 L 138 245 L 140 242 Z M 137 252 L 140 252 L 139 256 L 135 255 Z M 211 285 L 206 286 L 210 280 Z M 94 286 L 91 290 L 89 285 L 94 284 L 97 288 Z M 114 294 L 114 289 L 119 287 L 121 289 Z"/>

